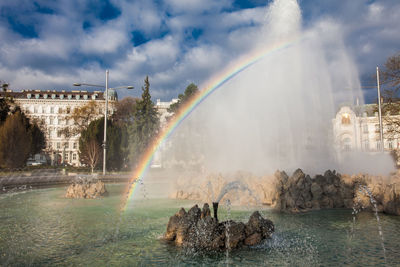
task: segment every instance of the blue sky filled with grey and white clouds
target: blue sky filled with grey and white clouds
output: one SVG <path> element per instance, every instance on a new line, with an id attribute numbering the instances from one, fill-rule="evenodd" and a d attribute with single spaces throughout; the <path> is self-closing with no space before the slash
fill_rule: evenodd
<path id="1" fill-rule="evenodd" d="M 76 90 L 105 83 L 139 96 L 146 75 L 153 100 L 204 85 L 249 53 L 268 0 L 1 0 L 0 80 L 13 90 Z M 400 51 L 400 1 L 299 0 L 303 28 L 334 21 L 371 85 L 376 66 Z M 81 88 L 86 89 L 86 88 Z M 88 88 L 89 89 L 89 88 Z M 375 89 L 364 89 L 366 102 Z"/>

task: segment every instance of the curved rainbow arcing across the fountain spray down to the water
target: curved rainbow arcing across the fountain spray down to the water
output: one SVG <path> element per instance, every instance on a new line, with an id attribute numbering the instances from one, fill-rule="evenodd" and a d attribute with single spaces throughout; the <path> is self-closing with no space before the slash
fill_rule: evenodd
<path id="1" fill-rule="evenodd" d="M 157 135 L 157 137 L 153 140 L 151 145 L 148 147 L 144 155 L 141 157 L 141 160 L 133 172 L 133 175 L 129 181 L 127 190 L 124 194 L 124 199 L 121 203 L 122 211 L 124 211 L 127 207 L 127 204 L 130 199 L 133 198 L 135 193 L 135 189 L 137 185 L 143 180 L 147 170 L 150 167 L 150 164 L 153 160 L 155 152 L 160 148 L 161 144 L 168 139 L 168 137 L 174 132 L 174 130 L 187 118 L 190 113 L 200 105 L 209 95 L 215 92 L 218 88 L 221 87 L 224 83 L 229 81 L 232 77 L 247 69 L 257 61 L 266 57 L 267 55 L 277 52 L 283 49 L 286 49 L 297 42 L 299 38 L 295 40 L 291 40 L 290 42 L 281 42 L 275 45 L 268 47 L 267 49 L 263 49 L 261 51 L 253 52 L 250 56 L 247 55 L 246 58 L 242 60 L 238 60 L 236 64 L 228 67 L 224 72 L 219 75 L 216 75 L 213 79 L 211 79 L 198 94 L 196 94 L 192 99 L 187 101 L 179 111 L 175 114 L 175 116 L 170 120 L 168 125 L 164 127 L 161 132 Z"/>

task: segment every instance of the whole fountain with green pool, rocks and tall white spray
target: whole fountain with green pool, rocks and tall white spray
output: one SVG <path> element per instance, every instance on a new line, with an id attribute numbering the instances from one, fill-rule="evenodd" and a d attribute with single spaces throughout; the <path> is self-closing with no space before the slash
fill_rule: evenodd
<path id="1" fill-rule="evenodd" d="M 162 157 L 172 166 L 202 159 L 196 164 L 203 177 L 251 171 L 221 181 L 216 198 L 211 190 L 214 217 L 208 204 L 200 209 L 191 199 L 167 199 L 173 172 L 150 170 L 140 177 L 139 193 L 123 212 L 119 207 L 126 197 L 125 184 L 108 184 L 109 197 L 96 201 L 71 201 L 64 197 L 65 188 L 57 187 L 4 193 L 0 265 L 397 265 L 399 218 L 385 214 L 400 213 L 397 178 L 372 187 L 369 181 L 359 183 L 364 176 L 315 175 L 340 170 L 329 140 L 335 104 L 362 99 L 360 91 L 345 90 L 357 88 L 359 82 L 340 26 L 321 20 L 303 28 L 297 1 L 275 0 L 267 9 L 265 26 L 252 34 L 250 50 L 261 49 L 262 56 L 202 101 L 171 135 L 166 145 L 170 150 Z M 302 170 L 295 171 L 299 167 Z M 276 169 L 293 174 L 265 175 Z M 196 186 L 195 178 L 184 178 Z M 204 181 L 203 188 L 219 188 L 219 176 L 213 178 Z M 228 184 L 238 190 L 223 190 Z M 360 213 L 357 226 L 362 230 L 352 237 L 349 255 L 344 240 L 352 215 L 343 208 L 351 207 L 359 184 L 371 188 L 375 211 L 385 212 L 377 219 L 385 240 L 376 232 L 374 215 Z M 240 191 L 240 201 L 234 191 Z M 228 216 L 224 199 L 232 202 Z M 250 202 L 264 205 L 257 207 L 260 212 L 243 208 Z M 274 206 L 282 212 L 272 210 Z"/>

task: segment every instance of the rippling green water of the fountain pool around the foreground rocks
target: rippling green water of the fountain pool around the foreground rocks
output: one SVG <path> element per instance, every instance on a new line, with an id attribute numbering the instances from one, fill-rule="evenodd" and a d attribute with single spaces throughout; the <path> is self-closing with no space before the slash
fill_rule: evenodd
<path id="1" fill-rule="evenodd" d="M 193 202 L 138 199 L 120 216 L 123 185 L 107 185 L 108 197 L 65 199 L 65 188 L 0 195 L 2 266 L 385 266 L 374 214 L 353 226 L 350 210 L 300 215 L 263 210 L 274 237 L 256 248 L 193 253 L 160 240 L 169 217 Z M 227 218 L 221 204 L 220 219 Z M 233 208 L 247 221 L 253 209 Z M 386 265 L 400 265 L 400 218 L 380 214 Z"/>

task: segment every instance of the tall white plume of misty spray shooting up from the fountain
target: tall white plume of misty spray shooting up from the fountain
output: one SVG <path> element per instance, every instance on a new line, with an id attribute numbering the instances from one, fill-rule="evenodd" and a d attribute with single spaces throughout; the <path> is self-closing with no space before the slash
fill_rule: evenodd
<path id="1" fill-rule="evenodd" d="M 346 171 L 338 166 L 332 119 L 338 103 L 363 103 L 363 96 L 341 26 L 325 19 L 304 27 L 296 0 L 275 0 L 266 14 L 262 27 L 243 36 L 248 53 L 289 46 L 205 99 L 170 137 L 166 165 L 192 168 L 197 160 L 196 168 L 209 172 Z M 355 165 L 362 171 L 362 162 Z"/>

